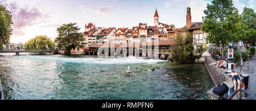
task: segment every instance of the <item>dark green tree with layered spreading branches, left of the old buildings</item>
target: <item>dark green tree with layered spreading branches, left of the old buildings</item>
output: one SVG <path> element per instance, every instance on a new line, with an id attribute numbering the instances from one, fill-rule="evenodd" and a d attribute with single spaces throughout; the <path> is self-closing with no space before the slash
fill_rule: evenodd
<path id="1" fill-rule="evenodd" d="M 63 24 L 57 28 L 59 35 L 55 41 L 58 41 L 57 47 L 59 49 L 65 49 L 65 54 L 71 54 L 71 49 L 79 46 L 84 48 L 84 37 L 82 33 L 79 33 L 80 28 L 76 26 L 76 23 Z"/>

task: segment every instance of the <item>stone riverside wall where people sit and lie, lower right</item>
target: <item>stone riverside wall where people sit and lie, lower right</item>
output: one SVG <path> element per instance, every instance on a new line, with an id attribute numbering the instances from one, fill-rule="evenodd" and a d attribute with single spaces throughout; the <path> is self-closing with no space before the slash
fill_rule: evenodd
<path id="1" fill-rule="evenodd" d="M 225 83 L 229 87 L 229 89 L 232 91 L 232 93 L 234 93 L 234 84 L 233 84 L 232 76 L 228 76 L 227 74 L 225 74 L 225 72 L 227 72 L 228 70 L 222 69 L 219 67 L 216 68 L 215 67 L 216 65 L 209 65 L 210 63 L 217 63 L 217 61 L 215 61 L 214 59 L 212 59 L 210 57 L 205 57 L 204 63 L 205 63 L 205 66 L 207 67 L 207 70 L 210 74 L 210 78 L 212 79 L 215 86 L 217 86 L 218 84 Z M 240 80 L 242 83 L 241 76 L 240 76 Z M 219 100 L 220 96 L 213 93 L 212 90 L 213 90 L 213 88 L 207 92 L 207 94 L 209 96 L 209 100 Z"/>

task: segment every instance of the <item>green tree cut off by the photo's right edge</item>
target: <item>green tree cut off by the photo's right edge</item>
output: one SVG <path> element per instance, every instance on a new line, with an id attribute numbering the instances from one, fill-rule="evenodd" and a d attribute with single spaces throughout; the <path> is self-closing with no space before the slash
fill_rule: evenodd
<path id="1" fill-rule="evenodd" d="M 245 48 L 249 50 L 255 46 L 256 41 L 256 13 L 251 8 L 243 8 L 241 35 L 238 40 L 242 40 Z"/>

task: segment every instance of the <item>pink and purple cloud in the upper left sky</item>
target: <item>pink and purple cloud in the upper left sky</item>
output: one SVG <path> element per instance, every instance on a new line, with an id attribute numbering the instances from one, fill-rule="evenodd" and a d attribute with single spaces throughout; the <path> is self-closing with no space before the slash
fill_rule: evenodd
<path id="1" fill-rule="evenodd" d="M 13 15 L 13 34 L 14 36 L 22 36 L 24 28 L 35 24 L 46 23 L 46 19 L 49 15 L 43 14 L 36 7 L 30 7 L 28 5 L 19 5 L 16 1 L 7 3 L 2 1 L 4 6 L 11 11 Z M 40 21 L 40 22 L 38 22 Z"/>

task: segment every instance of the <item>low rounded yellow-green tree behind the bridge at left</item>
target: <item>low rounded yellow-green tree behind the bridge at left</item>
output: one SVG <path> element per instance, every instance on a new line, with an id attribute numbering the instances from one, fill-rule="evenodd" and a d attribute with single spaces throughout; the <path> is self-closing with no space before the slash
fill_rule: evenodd
<path id="1" fill-rule="evenodd" d="M 46 35 L 36 36 L 25 43 L 25 49 L 54 49 L 55 43 Z"/>

